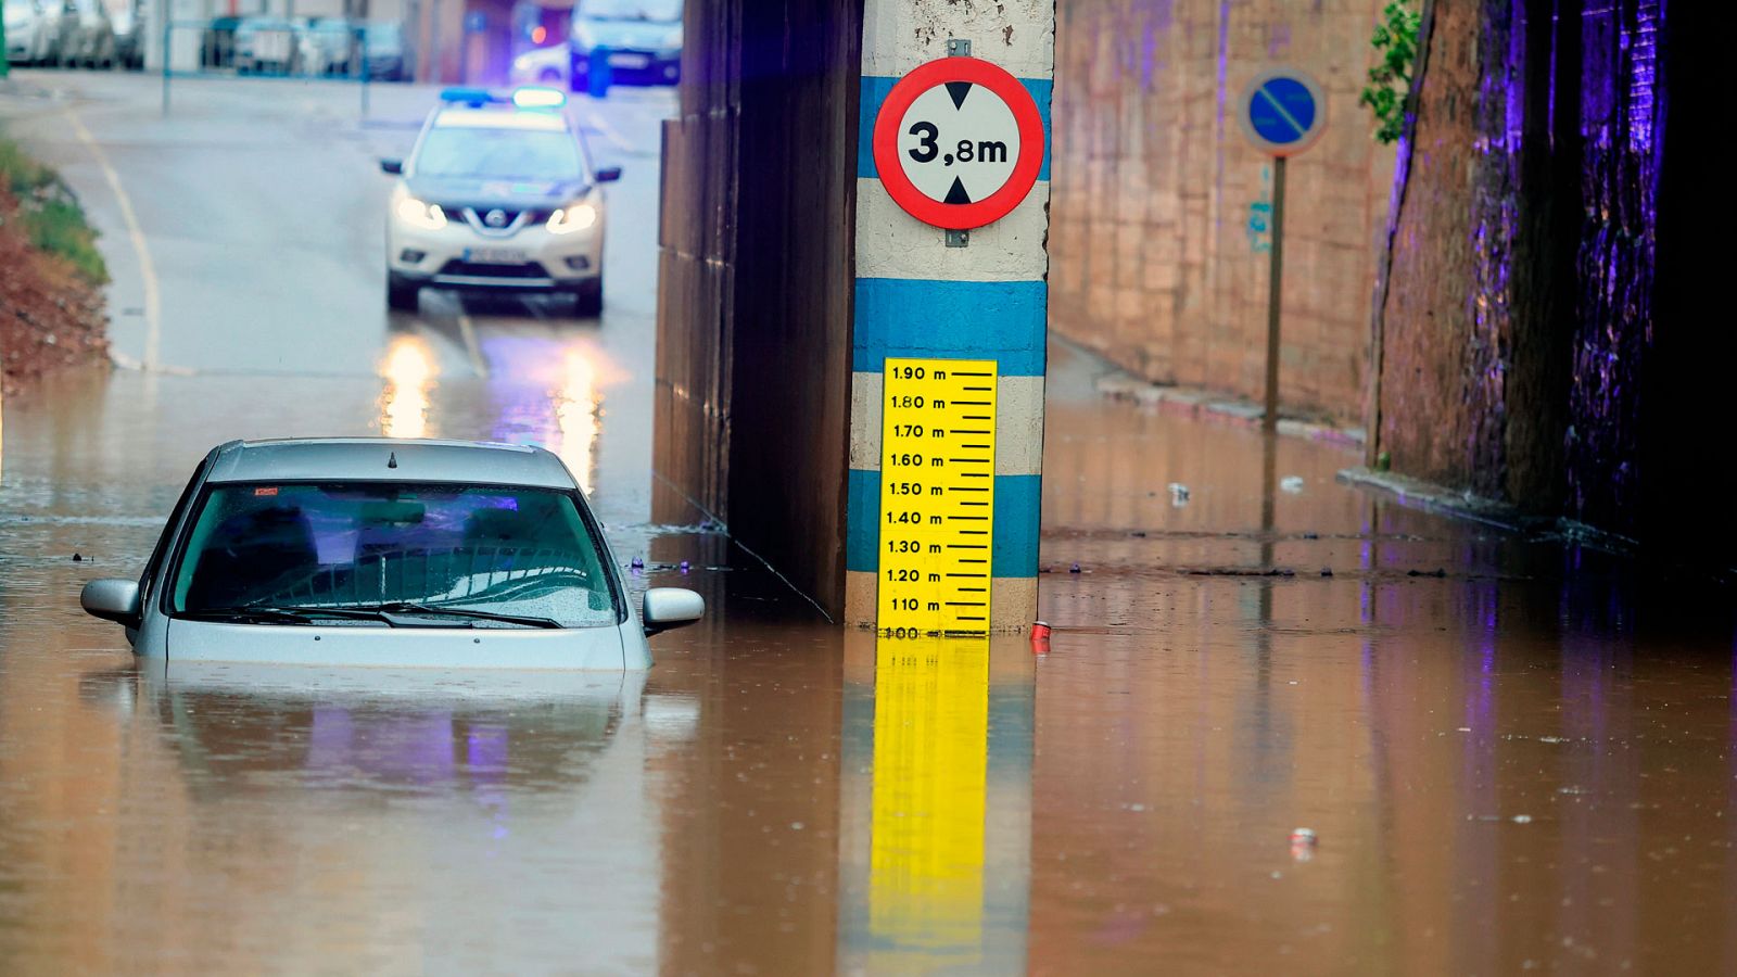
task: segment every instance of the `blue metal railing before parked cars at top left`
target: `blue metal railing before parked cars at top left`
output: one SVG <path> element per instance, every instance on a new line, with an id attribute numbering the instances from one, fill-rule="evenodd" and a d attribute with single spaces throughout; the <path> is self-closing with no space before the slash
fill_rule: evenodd
<path id="1" fill-rule="evenodd" d="M 368 85 L 387 59 L 370 61 L 367 26 L 318 30 L 288 21 L 281 26 L 255 24 L 238 42 L 240 26 L 224 19 L 163 24 L 163 115 L 168 115 L 172 104 L 174 80 L 236 76 L 356 85 L 361 115 L 368 115 Z M 177 63 L 198 68 L 177 70 Z M 401 56 L 391 57 L 391 63 L 398 76 L 408 68 Z"/>

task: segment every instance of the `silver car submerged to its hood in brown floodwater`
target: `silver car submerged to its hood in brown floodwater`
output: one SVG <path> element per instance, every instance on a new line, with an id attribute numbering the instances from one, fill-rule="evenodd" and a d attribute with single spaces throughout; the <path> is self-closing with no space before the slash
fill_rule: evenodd
<path id="1" fill-rule="evenodd" d="M 700 595 L 646 591 L 547 450 L 472 442 L 231 442 L 193 475 L 137 581 L 83 608 L 142 657 L 644 669 Z"/>

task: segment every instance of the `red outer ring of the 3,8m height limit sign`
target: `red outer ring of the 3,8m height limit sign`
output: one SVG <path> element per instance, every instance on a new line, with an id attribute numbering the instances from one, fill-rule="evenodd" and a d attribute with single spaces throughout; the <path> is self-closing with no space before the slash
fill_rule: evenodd
<path id="1" fill-rule="evenodd" d="M 995 92 L 1013 111 L 1013 120 L 1020 127 L 1020 158 L 1014 160 L 1007 183 L 995 193 L 971 203 L 945 203 L 922 193 L 905 176 L 898 155 L 898 127 L 905 120 L 905 111 L 919 96 L 947 82 L 971 82 Z M 1044 169 L 1044 116 L 1037 113 L 1032 92 L 1025 90 L 1025 85 L 1004 68 L 976 57 L 941 57 L 921 64 L 888 92 L 886 103 L 881 104 L 881 115 L 874 120 L 874 165 L 888 195 L 912 217 L 952 231 L 981 228 L 1011 214 L 1037 184 L 1037 174 Z"/>

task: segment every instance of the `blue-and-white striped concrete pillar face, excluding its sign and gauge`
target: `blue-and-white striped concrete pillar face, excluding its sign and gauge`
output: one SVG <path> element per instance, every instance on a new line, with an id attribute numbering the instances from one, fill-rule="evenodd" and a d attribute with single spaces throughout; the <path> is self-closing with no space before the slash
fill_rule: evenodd
<path id="1" fill-rule="evenodd" d="M 990 628 L 1037 612 L 1037 523 L 1044 440 L 1049 289 L 1049 160 L 1007 217 L 971 231 L 969 247 L 905 214 L 875 172 L 881 103 L 908 71 L 947 57 L 948 40 L 1021 80 L 1049 143 L 1054 0 L 943 3 L 867 0 L 856 167 L 856 308 L 851 349 L 851 452 L 846 621 L 875 622 L 881 551 L 882 370 L 888 356 L 995 360 L 995 483 Z"/>

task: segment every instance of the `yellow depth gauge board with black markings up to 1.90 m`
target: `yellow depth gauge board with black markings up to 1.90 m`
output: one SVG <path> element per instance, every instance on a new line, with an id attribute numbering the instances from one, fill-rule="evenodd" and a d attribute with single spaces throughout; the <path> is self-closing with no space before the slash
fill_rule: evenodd
<path id="1" fill-rule="evenodd" d="M 882 635 L 988 631 L 995 374 L 994 362 L 886 360 L 875 575 Z"/>

